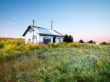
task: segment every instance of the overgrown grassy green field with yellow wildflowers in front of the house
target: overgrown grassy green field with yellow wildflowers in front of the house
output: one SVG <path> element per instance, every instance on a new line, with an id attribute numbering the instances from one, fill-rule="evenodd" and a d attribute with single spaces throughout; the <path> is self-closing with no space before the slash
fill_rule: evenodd
<path id="1" fill-rule="evenodd" d="M 0 39 L 0 82 L 110 82 L 110 45 Z"/>

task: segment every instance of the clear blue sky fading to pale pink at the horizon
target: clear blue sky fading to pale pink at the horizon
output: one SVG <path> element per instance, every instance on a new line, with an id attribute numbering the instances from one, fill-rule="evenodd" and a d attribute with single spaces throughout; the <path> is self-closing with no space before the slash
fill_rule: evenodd
<path id="1" fill-rule="evenodd" d="M 0 0 L 0 37 L 22 37 L 33 19 L 74 41 L 110 42 L 110 0 Z"/>

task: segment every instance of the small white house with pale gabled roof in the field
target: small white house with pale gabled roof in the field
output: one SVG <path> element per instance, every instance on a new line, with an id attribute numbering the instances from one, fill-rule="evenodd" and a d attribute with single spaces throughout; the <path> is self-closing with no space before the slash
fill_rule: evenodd
<path id="1" fill-rule="evenodd" d="M 56 30 L 28 26 L 23 34 L 25 43 L 47 44 L 63 42 L 63 35 Z"/>

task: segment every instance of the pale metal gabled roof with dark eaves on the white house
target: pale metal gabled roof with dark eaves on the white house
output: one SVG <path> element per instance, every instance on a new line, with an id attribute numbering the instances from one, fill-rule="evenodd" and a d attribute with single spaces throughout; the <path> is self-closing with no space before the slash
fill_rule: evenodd
<path id="1" fill-rule="evenodd" d="M 43 27 L 36 27 L 36 26 L 28 26 L 28 28 L 26 29 L 26 31 L 24 32 L 23 36 L 26 35 L 26 33 L 30 30 L 34 30 L 37 33 L 39 33 L 40 35 L 50 35 L 50 36 L 63 36 L 61 33 L 59 33 L 56 30 L 51 30 L 51 29 L 47 29 L 47 28 L 43 28 Z"/>

